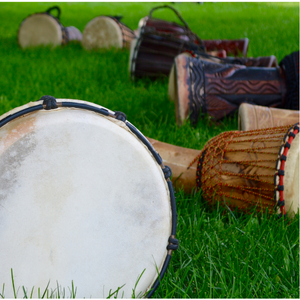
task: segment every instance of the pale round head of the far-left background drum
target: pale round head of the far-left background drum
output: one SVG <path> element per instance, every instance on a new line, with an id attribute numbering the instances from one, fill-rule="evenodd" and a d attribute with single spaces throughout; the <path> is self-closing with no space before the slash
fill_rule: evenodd
<path id="1" fill-rule="evenodd" d="M 26 18 L 18 32 L 22 48 L 39 45 L 61 45 L 62 31 L 59 23 L 47 14 L 34 14 Z"/>

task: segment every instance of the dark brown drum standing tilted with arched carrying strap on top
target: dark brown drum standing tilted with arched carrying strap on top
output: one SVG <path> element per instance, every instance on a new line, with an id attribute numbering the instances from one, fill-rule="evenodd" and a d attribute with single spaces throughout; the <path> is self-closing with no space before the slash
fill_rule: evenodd
<path id="1" fill-rule="evenodd" d="M 160 8 L 173 10 L 183 26 L 152 18 L 153 11 Z M 129 70 L 132 79 L 168 76 L 174 58 L 185 51 L 205 51 L 205 47 L 174 8 L 168 5 L 153 8 L 149 16 L 140 20 L 137 38 L 131 42 Z"/>

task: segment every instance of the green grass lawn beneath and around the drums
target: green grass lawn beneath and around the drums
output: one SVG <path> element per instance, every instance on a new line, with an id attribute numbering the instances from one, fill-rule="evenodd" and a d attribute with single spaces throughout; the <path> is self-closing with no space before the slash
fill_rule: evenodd
<path id="1" fill-rule="evenodd" d="M 0 3 L 0 114 L 43 95 L 73 98 L 123 111 L 143 134 L 201 149 L 213 136 L 237 129 L 237 117 L 193 128 L 175 124 L 167 79 L 129 78 L 128 50 L 85 51 L 69 44 L 22 50 L 21 21 L 56 3 Z M 137 28 L 159 3 L 58 3 L 65 26 L 84 26 L 100 14 L 123 15 Z M 248 56 L 280 61 L 299 50 L 298 3 L 177 3 L 190 28 L 203 39 L 250 40 Z M 167 11 L 157 17 L 175 20 Z M 294 219 L 244 215 L 207 207 L 199 193 L 176 193 L 179 250 L 155 292 L 156 298 L 299 298 L 299 214 Z"/>

